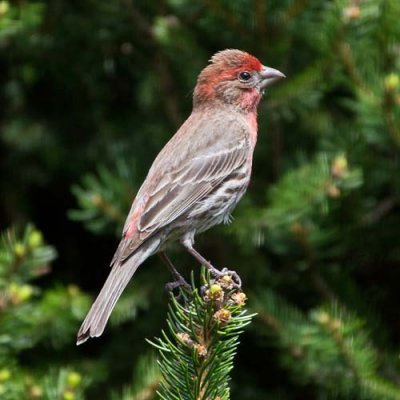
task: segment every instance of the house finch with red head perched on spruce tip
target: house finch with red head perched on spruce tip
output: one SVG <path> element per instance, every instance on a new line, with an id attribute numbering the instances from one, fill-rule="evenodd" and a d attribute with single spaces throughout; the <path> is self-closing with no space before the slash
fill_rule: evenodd
<path id="1" fill-rule="evenodd" d="M 77 344 L 100 336 L 137 268 L 169 241 L 183 247 L 214 275 L 194 248 L 194 236 L 228 222 L 250 181 L 257 141 L 257 106 L 264 89 L 283 78 L 239 50 L 216 53 L 201 71 L 193 111 L 153 162 L 132 204 L 111 272 L 78 332 Z M 240 279 L 231 273 L 240 284 Z"/>

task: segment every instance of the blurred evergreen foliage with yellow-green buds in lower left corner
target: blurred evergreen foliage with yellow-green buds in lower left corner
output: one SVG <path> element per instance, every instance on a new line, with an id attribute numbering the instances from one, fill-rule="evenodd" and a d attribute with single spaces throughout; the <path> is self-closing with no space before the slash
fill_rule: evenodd
<path id="1" fill-rule="evenodd" d="M 82 399 L 87 379 L 57 360 L 50 366 L 23 365 L 20 356 L 40 346 L 59 350 L 71 343 L 74 325 L 87 307 L 76 286 L 47 289 L 32 279 L 49 272 L 56 252 L 40 231 L 28 225 L 9 230 L 0 243 L 0 398 Z M 62 315 L 62 318 L 59 316 Z"/>

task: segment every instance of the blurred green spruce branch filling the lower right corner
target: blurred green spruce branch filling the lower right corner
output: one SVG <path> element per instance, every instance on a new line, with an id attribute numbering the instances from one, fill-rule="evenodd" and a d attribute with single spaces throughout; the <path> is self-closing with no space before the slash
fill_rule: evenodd
<path id="1" fill-rule="evenodd" d="M 275 341 L 281 364 L 304 384 L 346 398 L 400 399 L 393 379 L 382 374 L 381 349 L 374 346 L 365 321 L 337 302 L 307 314 L 272 290 L 252 296 L 259 313 L 257 334 Z"/>

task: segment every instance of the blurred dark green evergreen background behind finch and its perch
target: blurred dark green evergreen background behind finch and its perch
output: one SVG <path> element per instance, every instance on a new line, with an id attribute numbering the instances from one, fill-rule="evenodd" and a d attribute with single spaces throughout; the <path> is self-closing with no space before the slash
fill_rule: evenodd
<path id="1" fill-rule="evenodd" d="M 234 222 L 198 238 L 259 314 L 232 399 L 400 399 L 399 21 L 398 0 L 1 0 L 0 398 L 156 398 L 157 257 L 75 334 L 197 74 L 239 48 L 287 79 Z"/>

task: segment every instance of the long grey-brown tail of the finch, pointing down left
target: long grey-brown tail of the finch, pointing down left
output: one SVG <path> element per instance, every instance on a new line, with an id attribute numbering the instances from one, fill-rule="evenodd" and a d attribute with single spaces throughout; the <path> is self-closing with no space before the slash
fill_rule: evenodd
<path id="1" fill-rule="evenodd" d="M 103 333 L 111 312 L 126 285 L 138 267 L 153 252 L 153 249 L 147 248 L 146 250 L 142 251 L 142 249 L 139 249 L 123 264 L 118 262 L 114 264 L 110 275 L 79 329 L 77 345 L 86 342 L 91 337 L 100 336 Z"/>

